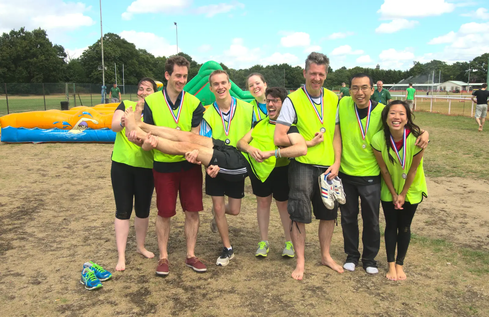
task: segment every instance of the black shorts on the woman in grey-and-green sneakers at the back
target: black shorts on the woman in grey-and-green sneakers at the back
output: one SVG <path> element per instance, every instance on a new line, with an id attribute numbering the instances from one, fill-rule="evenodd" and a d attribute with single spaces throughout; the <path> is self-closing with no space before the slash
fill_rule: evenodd
<path id="1" fill-rule="evenodd" d="M 276 201 L 289 199 L 289 166 L 274 168 L 263 183 L 253 171 L 250 170 L 248 175 L 254 195 L 258 197 L 273 195 Z"/>

